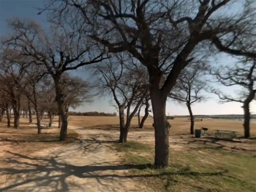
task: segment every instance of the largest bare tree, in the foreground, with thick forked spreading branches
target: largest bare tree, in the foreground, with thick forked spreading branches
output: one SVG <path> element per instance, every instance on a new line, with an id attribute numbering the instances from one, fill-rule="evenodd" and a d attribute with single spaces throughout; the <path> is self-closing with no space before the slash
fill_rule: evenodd
<path id="1" fill-rule="evenodd" d="M 223 15 L 225 8 L 238 6 L 232 3 L 231 0 L 63 0 L 51 1 L 42 11 L 48 11 L 55 24 L 72 23 L 74 30 L 83 33 L 84 38 L 89 36 L 104 50 L 129 52 L 146 66 L 156 130 L 155 164 L 168 166 L 170 125 L 165 106 L 167 94 L 181 70 L 190 61 L 200 60 L 198 53 L 212 48 L 211 44 L 223 52 L 255 55 L 243 46 L 236 46 L 238 41 L 252 37 L 253 1 L 238 2 L 243 9 L 236 15 L 227 12 Z M 160 86 L 164 75 L 166 80 Z"/>

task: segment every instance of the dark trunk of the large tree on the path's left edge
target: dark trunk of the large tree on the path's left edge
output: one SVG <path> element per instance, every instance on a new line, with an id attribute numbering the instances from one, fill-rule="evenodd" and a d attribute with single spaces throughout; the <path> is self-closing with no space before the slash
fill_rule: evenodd
<path id="1" fill-rule="evenodd" d="M 61 119 L 61 128 L 60 128 L 60 141 L 64 141 L 67 136 L 68 130 L 68 118 L 65 115 L 65 109 L 63 104 L 63 97 L 59 87 L 59 80 L 55 78 L 55 90 L 56 90 L 56 101 L 58 103 L 58 111 Z"/>

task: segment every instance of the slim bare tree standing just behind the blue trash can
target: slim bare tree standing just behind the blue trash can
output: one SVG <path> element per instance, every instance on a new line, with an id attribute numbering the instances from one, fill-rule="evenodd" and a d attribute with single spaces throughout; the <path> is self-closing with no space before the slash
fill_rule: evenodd
<path id="1" fill-rule="evenodd" d="M 190 134 L 194 134 L 194 116 L 191 105 L 202 102 L 207 99 L 202 91 L 206 89 L 205 70 L 203 67 L 192 66 L 184 69 L 170 94 L 170 98 L 176 100 L 180 104 L 185 104 L 188 108 L 190 116 Z"/>

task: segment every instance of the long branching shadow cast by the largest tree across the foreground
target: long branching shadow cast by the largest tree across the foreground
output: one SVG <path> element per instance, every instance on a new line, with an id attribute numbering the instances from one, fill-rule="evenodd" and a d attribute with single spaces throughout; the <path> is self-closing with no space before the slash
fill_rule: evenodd
<path id="1" fill-rule="evenodd" d="M 3 169 L 1 174 L 6 175 L 5 185 L 3 180 L 0 182 L 2 187 L 0 191 L 5 191 L 11 189 L 12 191 L 19 192 L 39 192 L 42 188 L 48 189 L 48 191 L 76 191 L 83 190 L 84 187 L 88 185 L 90 187 L 91 183 L 78 184 L 74 180 L 67 179 L 70 176 L 75 176 L 79 179 L 93 178 L 98 185 L 108 186 L 103 184 L 104 181 L 111 183 L 111 186 L 119 186 L 118 188 L 123 188 L 122 183 L 125 178 L 145 178 L 145 177 L 159 177 L 162 175 L 177 175 L 177 172 L 159 173 L 159 174 L 143 174 L 143 175 L 123 175 L 117 174 L 116 172 L 105 174 L 104 171 L 107 170 L 128 170 L 128 169 L 146 169 L 147 164 L 134 165 L 134 164 L 121 164 L 121 165 L 101 165 L 99 164 L 89 164 L 83 166 L 77 166 L 69 163 L 63 163 L 58 161 L 58 155 L 55 157 L 30 157 L 21 155 L 18 153 L 13 153 L 6 151 L 11 157 L 7 157 L 5 160 L 1 160 L 7 167 Z M 191 172 L 184 171 L 179 172 L 180 175 L 187 176 L 216 176 L 223 175 L 225 171 L 220 172 Z M 7 179 L 8 178 L 8 179 Z M 3 187 L 4 186 L 4 187 Z M 51 189 L 49 188 L 51 187 Z M 54 188 L 54 190 L 52 190 Z M 72 189 L 71 189 L 72 188 Z M 120 191 L 116 189 L 113 191 Z M 99 191 L 99 190 L 98 190 Z M 106 189 L 102 190 L 106 191 Z M 139 190 L 138 190 L 139 191 Z"/>

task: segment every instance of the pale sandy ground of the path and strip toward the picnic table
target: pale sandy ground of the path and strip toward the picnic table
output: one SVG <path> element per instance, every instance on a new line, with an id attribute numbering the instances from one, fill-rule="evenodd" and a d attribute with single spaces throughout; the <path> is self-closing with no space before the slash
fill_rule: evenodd
<path id="1" fill-rule="evenodd" d="M 57 124 L 54 122 L 53 126 Z M 73 125 L 76 126 L 68 126 L 68 129 L 74 129 L 82 135 L 81 140 L 76 143 L 61 147 L 52 144 L 50 149 L 39 152 L 32 150 L 31 153 L 14 153 L 17 150 L 13 146 L 1 146 L 0 192 L 153 192 L 141 184 L 140 176 L 125 176 L 128 167 L 120 163 L 120 154 L 117 155 L 111 147 L 111 143 L 118 139 L 119 131 Z M 154 145 L 154 131 L 135 130 L 128 133 L 129 141 Z M 171 134 L 171 150 L 197 148 L 197 141 L 191 137 L 187 134 Z M 255 143 L 218 141 L 218 144 L 212 144 L 210 140 L 198 140 L 201 143 L 206 141 L 209 148 L 221 147 L 253 154 L 256 151 Z M 33 142 L 29 145 L 33 148 Z"/>

